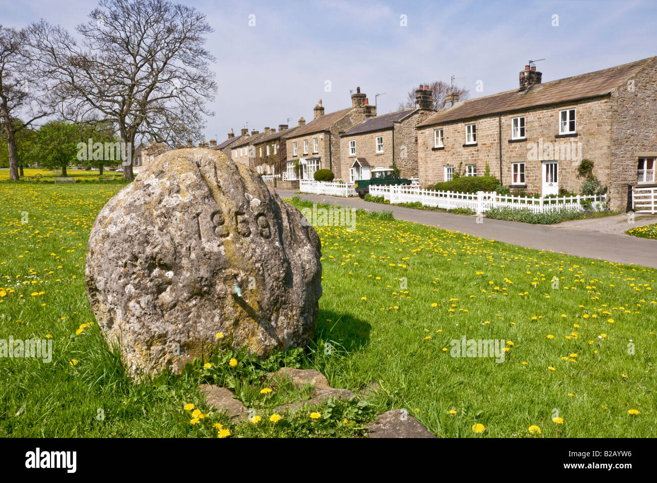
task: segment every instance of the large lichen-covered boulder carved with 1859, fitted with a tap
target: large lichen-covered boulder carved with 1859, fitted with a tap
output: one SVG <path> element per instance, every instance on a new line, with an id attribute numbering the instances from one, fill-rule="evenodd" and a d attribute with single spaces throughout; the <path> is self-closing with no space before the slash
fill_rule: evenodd
<path id="1" fill-rule="evenodd" d="M 133 375 L 177 373 L 217 333 L 260 356 L 315 333 L 317 233 L 221 152 L 156 158 L 102 208 L 88 253 L 91 308 Z"/>

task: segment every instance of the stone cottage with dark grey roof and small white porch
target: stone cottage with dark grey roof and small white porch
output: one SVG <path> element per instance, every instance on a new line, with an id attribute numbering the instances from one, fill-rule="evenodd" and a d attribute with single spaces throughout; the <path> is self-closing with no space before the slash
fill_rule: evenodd
<path id="1" fill-rule="evenodd" d="M 368 118 L 340 136 L 340 159 L 348 164 L 350 183 L 369 179 L 370 168 L 376 166 L 397 166 L 403 177 L 417 177 L 415 127 L 435 112 L 432 97 L 432 91 L 420 84 L 415 109 Z"/>

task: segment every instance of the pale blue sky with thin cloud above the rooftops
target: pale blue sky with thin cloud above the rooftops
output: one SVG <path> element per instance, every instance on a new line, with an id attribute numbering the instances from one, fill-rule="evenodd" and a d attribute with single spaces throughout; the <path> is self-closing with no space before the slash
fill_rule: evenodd
<path id="1" fill-rule="evenodd" d="M 545 82 L 657 55 L 653 0 L 181 3 L 206 13 L 215 29 L 207 46 L 219 91 L 205 134 L 219 142 L 246 122 L 262 131 L 311 120 L 317 99 L 327 113 L 348 107 L 357 86 L 371 103 L 386 93 L 378 97 L 384 114 L 412 87 L 452 74 L 477 97 L 518 87 L 530 59 L 545 58 L 537 63 Z M 45 18 L 72 32 L 95 5 L 0 0 L 0 24 Z"/>

